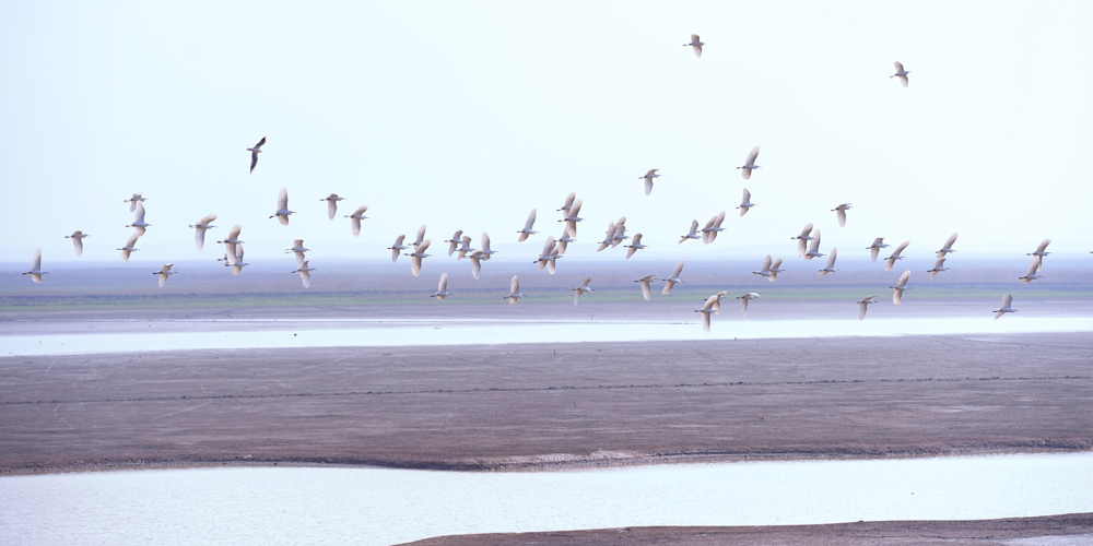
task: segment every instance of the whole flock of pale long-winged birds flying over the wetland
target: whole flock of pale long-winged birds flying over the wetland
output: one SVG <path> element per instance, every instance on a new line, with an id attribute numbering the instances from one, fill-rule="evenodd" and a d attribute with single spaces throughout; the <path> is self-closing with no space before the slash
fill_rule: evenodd
<path id="1" fill-rule="evenodd" d="M 696 34 L 691 35 L 691 41 L 683 45 L 691 47 L 694 50 L 695 57 L 698 58 L 702 57 L 702 50 L 703 50 L 702 48 L 703 46 L 705 46 L 705 43 L 703 43 L 700 39 L 698 35 Z M 900 62 L 895 62 L 895 69 L 896 72 L 892 74 L 890 78 L 897 78 L 900 82 L 903 84 L 903 86 L 906 87 L 909 83 L 907 74 L 909 74 L 910 72 L 905 70 L 903 64 Z M 262 153 L 262 146 L 265 144 L 266 144 L 266 138 L 263 136 L 252 147 L 247 149 L 247 151 L 250 152 L 250 173 L 254 173 L 255 167 L 257 167 L 258 156 L 260 153 Z M 743 165 L 737 167 L 737 169 L 741 171 L 741 176 L 743 177 L 744 180 L 750 180 L 753 171 L 762 168 L 760 165 L 755 163 L 759 159 L 759 154 L 760 154 L 760 149 L 759 146 L 755 146 L 745 157 Z M 649 169 L 644 176 L 638 177 L 638 179 L 644 181 L 646 195 L 650 195 L 653 193 L 654 180 L 660 176 L 658 171 L 659 169 Z M 752 197 L 751 192 L 747 188 L 744 188 L 740 205 L 737 206 L 737 210 L 740 211 L 740 216 L 744 216 L 753 206 L 755 206 L 755 204 L 751 202 L 751 197 Z M 341 198 L 336 193 L 331 193 L 328 197 L 320 199 L 320 201 L 327 202 L 327 214 L 331 221 L 334 219 L 334 217 L 337 216 L 338 203 L 343 200 L 344 198 Z M 148 227 L 150 227 L 151 224 L 148 224 L 144 221 L 145 198 L 141 193 L 133 193 L 132 197 L 127 199 L 125 202 L 129 203 L 129 210 L 131 213 L 134 214 L 133 222 L 131 224 L 126 225 L 126 227 L 132 227 L 133 233 L 130 235 L 126 245 L 124 247 L 118 248 L 118 250 L 121 251 L 122 261 L 128 261 L 130 254 L 138 250 L 137 242 L 139 238 L 145 234 Z M 557 212 L 562 213 L 561 214 L 562 217 L 557 222 L 564 224 L 563 232 L 561 237 L 557 239 L 555 239 L 553 236 L 546 237 L 546 240 L 543 244 L 542 251 L 533 261 L 533 263 L 537 265 L 539 270 L 545 269 L 550 274 L 554 274 L 556 271 L 556 262 L 560 258 L 564 257 L 567 245 L 576 241 L 577 225 L 578 223 L 584 221 L 584 218 L 579 216 L 581 204 L 583 201 L 577 199 L 576 193 L 569 193 L 568 197 L 565 199 L 564 203 L 562 204 L 562 206 L 557 209 Z M 831 212 L 835 212 L 839 227 L 846 226 L 847 211 L 849 209 L 851 209 L 850 203 L 842 203 L 831 210 Z M 364 215 L 364 213 L 367 212 L 367 210 L 368 210 L 367 205 L 361 205 L 357 209 L 355 209 L 352 214 L 344 215 L 344 217 L 350 218 L 350 227 L 354 236 L 360 236 L 361 222 L 368 217 Z M 278 195 L 277 210 L 273 212 L 273 214 L 270 215 L 270 218 L 277 218 L 282 225 L 289 225 L 289 218 L 292 214 L 295 214 L 295 212 L 289 210 L 287 189 L 282 188 Z M 692 221 L 690 230 L 686 234 L 680 236 L 679 244 L 683 244 L 689 240 L 702 240 L 706 245 L 714 242 L 714 240 L 717 238 L 717 234 L 725 230 L 725 228 L 721 227 L 725 217 L 726 213 L 722 211 L 719 214 L 715 215 L 714 217 L 709 218 L 709 221 L 707 221 L 705 225 L 703 225 L 702 227 L 700 227 L 697 219 Z M 190 228 L 195 229 L 195 242 L 198 249 L 204 248 L 205 233 L 209 229 L 215 227 L 212 223 L 216 221 L 216 218 L 218 216 L 215 214 L 210 214 L 199 219 L 196 224 L 189 226 Z M 532 209 L 530 214 L 528 215 L 528 218 L 524 227 L 517 232 L 518 241 L 521 242 L 526 241 L 530 236 L 538 234 L 538 232 L 534 230 L 536 221 L 537 221 L 537 210 Z M 631 237 L 626 235 L 626 233 L 627 233 L 627 227 L 626 227 L 625 216 L 619 218 L 615 222 L 610 222 L 608 224 L 604 238 L 598 242 L 599 247 L 597 248 L 597 251 L 603 251 L 608 248 L 618 247 L 623 242 L 625 242 L 627 239 L 630 240 L 630 244 L 623 245 L 624 248 L 628 249 L 626 252 L 627 259 L 633 257 L 637 251 L 646 248 L 646 246 L 642 244 L 643 234 L 638 233 L 633 235 L 633 237 Z M 248 265 L 244 261 L 244 249 L 243 249 L 244 241 L 239 239 L 240 234 L 242 234 L 242 227 L 239 225 L 235 225 L 228 232 L 227 237 L 216 241 L 218 244 L 224 245 L 224 257 L 219 259 L 219 261 L 223 261 L 225 266 L 232 268 L 232 271 L 235 275 L 242 274 L 243 269 L 246 265 Z M 72 244 L 74 245 L 75 253 L 78 257 L 83 254 L 83 239 L 86 238 L 87 236 L 89 236 L 87 234 L 84 234 L 81 230 L 73 232 L 72 235 L 66 236 L 66 238 L 72 239 Z M 938 273 L 949 270 L 948 268 L 944 266 L 944 263 L 948 254 L 955 252 L 955 250 L 953 250 L 952 247 L 956 241 L 956 237 L 957 234 L 953 234 L 945 241 L 944 246 L 937 251 L 937 262 L 935 263 L 933 268 L 928 271 L 928 273 L 930 274 L 930 278 L 933 278 Z M 830 253 L 827 254 L 824 254 L 820 251 L 821 234 L 820 229 L 815 228 L 813 224 L 810 223 L 806 225 L 804 228 L 801 229 L 801 232 L 798 235 L 791 237 L 791 239 L 797 240 L 798 254 L 800 256 L 800 258 L 804 260 L 812 260 L 813 258 L 821 258 L 824 256 L 827 257 L 826 266 L 819 270 L 820 276 L 827 275 L 830 273 L 835 273 L 838 271 L 835 268 L 835 260 L 838 256 L 838 250 L 832 248 Z M 481 248 L 478 249 L 471 246 L 472 238 L 469 235 L 465 235 L 462 230 L 457 230 L 451 236 L 451 238 L 446 239 L 444 242 L 449 244 L 448 246 L 449 257 L 456 254 L 457 260 L 462 260 L 466 258 L 470 261 L 471 274 L 475 280 L 479 278 L 481 275 L 482 263 L 487 262 L 491 259 L 491 257 L 496 252 L 491 249 L 490 236 L 485 233 L 482 234 L 480 244 Z M 1049 244 L 1050 239 L 1046 239 L 1036 248 L 1035 251 L 1029 253 L 1029 256 L 1033 257 L 1033 260 L 1032 263 L 1030 264 L 1027 273 L 1019 277 L 1021 283 L 1027 284 L 1036 278 L 1039 278 L 1039 275 L 1037 275 L 1037 273 L 1039 273 L 1043 270 L 1044 257 L 1046 257 L 1049 253 L 1047 251 L 1047 246 Z M 422 225 L 421 228 L 419 228 L 418 230 L 416 238 L 412 242 L 407 244 L 406 235 L 399 235 L 395 239 L 395 242 L 390 247 L 387 247 L 387 249 L 391 250 L 392 262 L 397 262 L 399 257 L 401 256 L 409 257 L 411 261 L 411 273 L 414 276 L 419 276 L 421 274 L 423 260 L 432 256 L 426 253 L 426 251 L 430 248 L 430 245 L 431 240 L 425 238 L 425 225 Z M 902 242 L 895 248 L 895 250 L 888 258 L 884 258 L 884 264 L 885 264 L 884 271 L 892 271 L 892 269 L 895 265 L 895 262 L 904 258 L 902 253 L 909 245 L 910 241 Z M 889 248 L 889 245 L 884 244 L 883 237 L 878 237 L 875 240 L 873 240 L 873 242 L 869 247 L 866 247 L 866 249 L 870 251 L 870 256 L 873 262 L 878 260 L 878 258 L 880 257 L 881 249 L 884 248 Z M 309 249 L 304 247 L 303 239 L 296 239 L 293 244 L 293 247 L 286 249 L 285 251 L 286 253 L 293 253 L 295 256 L 296 269 L 293 270 L 291 273 L 298 274 L 304 287 L 309 287 L 310 272 L 316 270 L 314 268 L 310 268 L 308 264 L 308 260 L 306 259 L 306 252 L 308 252 Z M 762 268 L 759 271 L 754 271 L 752 273 L 765 277 L 769 282 L 774 283 L 778 278 L 778 273 L 783 271 L 781 263 L 783 263 L 781 258 L 774 259 L 771 254 L 767 254 L 763 261 Z M 685 260 L 680 260 L 675 264 L 675 268 L 672 270 L 670 275 L 663 277 L 658 277 L 657 275 L 646 275 L 642 278 L 634 281 L 634 283 L 639 284 L 642 289 L 642 295 L 647 301 L 651 299 L 653 283 L 655 281 L 665 282 L 665 286 L 661 290 L 661 294 L 668 295 L 672 292 L 673 286 L 683 283 L 682 273 L 684 264 Z M 163 265 L 163 268 L 160 269 L 160 271 L 152 273 L 158 276 L 158 284 L 161 287 L 166 284 L 171 275 L 177 273 L 175 271 L 172 271 L 173 265 L 174 265 L 173 263 L 166 263 Z M 42 271 L 42 250 L 37 249 L 32 260 L 31 270 L 23 274 L 30 275 L 35 283 L 40 284 L 43 275 L 45 275 L 46 273 L 47 272 Z M 900 302 L 903 299 L 904 292 L 910 289 L 910 287 L 907 285 L 910 280 L 910 273 L 912 273 L 910 270 L 904 271 L 903 274 L 900 275 L 896 284 L 889 286 L 889 288 L 893 290 L 892 302 L 894 305 L 900 305 Z M 584 295 L 585 293 L 592 292 L 590 283 L 591 283 L 591 277 L 586 277 L 580 283 L 579 286 L 572 289 L 574 292 L 574 298 L 573 298 L 574 305 L 577 305 L 579 302 L 581 295 Z M 433 294 L 431 297 L 435 297 L 437 300 L 444 300 L 445 298 L 451 295 L 453 293 L 448 292 L 448 274 L 443 273 L 440 275 L 439 283 L 437 284 L 436 293 Z M 726 295 L 727 295 L 726 290 L 718 292 L 717 294 L 709 296 L 705 300 L 705 304 L 702 306 L 702 308 L 695 309 L 695 312 L 702 316 L 702 323 L 705 331 L 708 332 L 710 329 L 710 317 L 713 314 L 720 312 L 721 299 L 726 297 Z M 522 297 L 524 295 L 520 294 L 519 278 L 517 275 L 513 275 L 509 294 L 507 296 L 504 296 L 504 299 L 507 299 L 509 304 L 515 305 Z M 740 300 L 741 302 L 741 312 L 747 316 L 749 301 L 756 299 L 759 297 L 760 295 L 754 292 L 737 296 L 736 299 Z M 877 298 L 879 297 L 880 296 L 875 295 L 867 296 L 858 301 L 859 320 L 865 319 L 868 306 L 870 304 L 875 304 Z M 1002 298 L 1001 307 L 992 311 L 995 312 L 995 319 L 997 320 L 999 317 L 1009 312 L 1015 312 L 1016 310 L 1012 308 L 1011 304 L 1012 304 L 1012 296 L 1010 294 L 1006 294 L 1006 296 Z"/>

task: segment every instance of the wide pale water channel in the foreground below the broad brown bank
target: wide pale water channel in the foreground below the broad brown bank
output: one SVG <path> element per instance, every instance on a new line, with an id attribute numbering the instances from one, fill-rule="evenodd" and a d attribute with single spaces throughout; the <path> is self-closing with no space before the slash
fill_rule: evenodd
<path id="1" fill-rule="evenodd" d="M 4 544 L 396 544 L 638 525 L 1093 509 L 1093 453 L 460 473 L 222 467 L 0 477 Z"/>

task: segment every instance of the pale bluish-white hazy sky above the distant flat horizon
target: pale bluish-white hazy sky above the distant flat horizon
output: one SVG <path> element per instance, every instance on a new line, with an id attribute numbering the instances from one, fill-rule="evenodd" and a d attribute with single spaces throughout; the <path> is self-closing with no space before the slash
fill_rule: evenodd
<path id="1" fill-rule="evenodd" d="M 586 221 L 569 254 L 597 260 L 622 258 L 592 249 L 623 215 L 647 259 L 792 259 L 809 222 L 841 259 L 881 236 L 929 254 L 953 232 L 957 256 L 1045 238 L 1085 253 L 1090 21 L 1077 1 L 3 2 L 2 261 L 77 260 L 63 236 L 83 229 L 81 260 L 120 263 L 133 192 L 144 264 L 214 266 L 233 224 L 248 259 L 294 238 L 313 265 L 384 259 L 427 223 L 434 254 L 485 230 L 530 261 L 571 191 Z M 268 219 L 282 187 L 287 227 Z M 740 218 L 744 187 L 757 206 Z M 334 222 L 330 192 L 346 198 Z M 354 239 L 341 215 L 359 204 Z M 508 245 L 532 207 L 541 235 Z M 677 245 L 722 210 L 714 245 Z M 186 226 L 210 213 L 198 251 Z"/>

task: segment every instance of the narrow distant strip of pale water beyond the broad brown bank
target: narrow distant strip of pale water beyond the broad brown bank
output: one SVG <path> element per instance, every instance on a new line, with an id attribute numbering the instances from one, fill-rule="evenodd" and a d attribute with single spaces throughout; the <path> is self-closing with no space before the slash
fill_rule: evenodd
<path id="1" fill-rule="evenodd" d="M 696 322 L 588 320 L 202 320 L 165 321 L 168 331 L 0 335 L 0 356 L 145 353 L 177 349 L 304 348 L 507 343 L 701 341 L 1093 332 L 1093 317 L 987 317 L 733 320 L 715 317 L 710 332 Z M 1007 319 L 1010 319 L 1007 317 Z M 326 324 L 339 323 L 341 328 Z M 128 323 L 127 323 L 128 324 Z"/>

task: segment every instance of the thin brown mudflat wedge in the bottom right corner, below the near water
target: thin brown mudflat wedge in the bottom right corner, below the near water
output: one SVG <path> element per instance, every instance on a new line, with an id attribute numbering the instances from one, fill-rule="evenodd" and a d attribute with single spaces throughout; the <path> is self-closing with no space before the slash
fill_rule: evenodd
<path id="1" fill-rule="evenodd" d="M 895 521 L 765 527 L 625 527 L 553 533 L 444 536 L 414 546 L 1079 546 L 1093 544 L 1093 514 L 982 521 Z"/>

